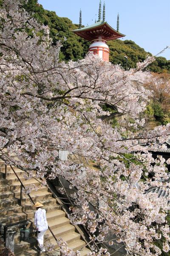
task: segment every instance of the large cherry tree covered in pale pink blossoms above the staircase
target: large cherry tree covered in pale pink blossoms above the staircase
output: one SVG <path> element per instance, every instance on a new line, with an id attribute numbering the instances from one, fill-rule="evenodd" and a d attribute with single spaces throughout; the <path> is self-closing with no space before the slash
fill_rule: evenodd
<path id="1" fill-rule="evenodd" d="M 4 1 L 0 22 L 0 158 L 30 177 L 33 170 L 37 177 L 63 177 L 77 189 L 69 198 L 69 217 L 87 228 L 91 255 L 109 255 L 98 244 L 113 244 L 115 237 L 130 255 L 167 253 L 169 173 L 165 160 L 154 160 L 148 150 L 167 140 L 170 125 L 136 135 L 100 118 L 109 115 L 102 110 L 107 104 L 142 129 L 139 114 L 150 96 L 143 84 L 151 76 L 142 70 L 154 58 L 129 71 L 93 54 L 60 62 L 60 42 L 52 45 L 48 27 L 19 0 Z M 68 160 L 57 160 L 59 149 L 69 151 Z M 152 187 L 163 188 L 167 197 L 158 198 Z M 63 241 L 60 246 L 69 250 Z"/>

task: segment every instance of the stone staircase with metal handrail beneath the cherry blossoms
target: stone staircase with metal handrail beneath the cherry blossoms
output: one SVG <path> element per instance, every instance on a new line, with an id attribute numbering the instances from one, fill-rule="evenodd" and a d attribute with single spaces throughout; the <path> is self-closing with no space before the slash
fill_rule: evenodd
<path id="1" fill-rule="evenodd" d="M 24 186 L 38 184 L 34 178 L 26 180 L 25 172 L 13 167 Z M 40 251 L 37 250 L 37 240 L 34 230 L 34 208 L 28 195 L 23 193 L 22 206 L 20 206 L 20 182 L 12 171 L 10 166 L 7 166 L 7 177 L 5 176 L 5 164 L 0 161 L 0 223 L 11 224 L 17 221 L 28 219 L 30 228 L 29 242 L 20 242 L 20 233 L 15 235 L 14 253 L 16 256 L 38 256 Z M 44 205 L 48 226 L 51 227 L 54 235 L 57 238 L 62 238 L 68 243 L 68 247 L 74 251 L 80 250 L 81 256 L 87 256 L 90 250 L 85 247 L 85 241 L 81 240 L 81 236 L 76 232 L 75 227 L 70 224 L 65 212 L 57 204 L 56 199 L 52 197 L 51 192 L 45 186 L 42 186 L 37 192 L 30 193 L 34 202 L 39 201 Z M 50 230 L 47 230 L 44 236 L 44 244 L 49 242 L 54 245 L 54 250 L 51 252 L 41 253 L 43 256 L 58 256 L 60 255 L 59 247 L 52 236 Z M 82 250 L 81 250 L 82 249 Z"/>

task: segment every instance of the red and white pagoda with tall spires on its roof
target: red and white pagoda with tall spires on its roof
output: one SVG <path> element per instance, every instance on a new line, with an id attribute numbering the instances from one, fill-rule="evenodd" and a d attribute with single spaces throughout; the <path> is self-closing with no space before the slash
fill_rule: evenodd
<path id="1" fill-rule="evenodd" d="M 105 21 L 105 3 L 103 5 L 103 17 L 101 15 L 102 3 L 99 3 L 99 19 L 91 26 L 82 26 L 82 12 L 80 10 L 79 29 L 73 30 L 73 32 L 80 37 L 91 41 L 89 51 L 94 54 L 98 54 L 103 61 L 109 61 L 109 47 L 106 44 L 107 41 L 122 38 L 125 35 L 119 32 L 119 14 L 117 19 L 117 30 L 113 29 Z"/>

